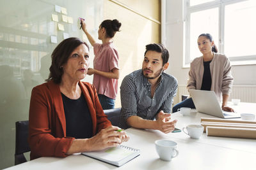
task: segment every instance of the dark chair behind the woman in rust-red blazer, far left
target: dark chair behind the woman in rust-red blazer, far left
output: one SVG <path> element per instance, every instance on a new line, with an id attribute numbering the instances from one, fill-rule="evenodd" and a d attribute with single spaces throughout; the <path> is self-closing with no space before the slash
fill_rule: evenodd
<path id="1" fill-rule="evenodd" d="M 16 125 L 16 139 L 15 139 L 15 166 L 27 162 L 24 153 L 29 152 L 28 145 L 28 120 L 18 121 Z"/>

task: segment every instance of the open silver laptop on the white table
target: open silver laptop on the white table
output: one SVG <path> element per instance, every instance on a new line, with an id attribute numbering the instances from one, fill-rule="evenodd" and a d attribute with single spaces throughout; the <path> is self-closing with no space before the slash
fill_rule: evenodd
<path id="1" fill-rule="evenodd" d="M 196 106 L 196 110 L 200 113 L 212 115 L 221 118 L 239 118 L 239 113 L 221 110 L 220 103 L 214 91 L 193 90 L 189 89 L 189 93 Z"/>

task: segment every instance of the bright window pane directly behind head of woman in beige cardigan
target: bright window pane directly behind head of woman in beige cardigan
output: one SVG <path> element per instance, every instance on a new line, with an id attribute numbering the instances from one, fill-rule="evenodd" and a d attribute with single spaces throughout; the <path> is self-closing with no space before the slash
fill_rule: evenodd
<path id="1" fill-rule="evenodd" d="M 219 45 L 219 10 L 212 8 L 209 10 L 191 13 L 190 19 L 190 60 L 202 56 L 198 50 L 197 39 L 202 33 L 209 33 L 215 40 L 214 43 Z"/>

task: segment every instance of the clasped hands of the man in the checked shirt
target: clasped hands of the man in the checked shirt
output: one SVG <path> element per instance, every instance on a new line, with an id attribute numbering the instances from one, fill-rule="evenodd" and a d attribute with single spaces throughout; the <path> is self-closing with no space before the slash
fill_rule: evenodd
<path id="1" fill-rule="evenodd" d="M 157 114 L 157 129 L 164 133 L 172 132 L 177 120 L 171 121 L 171 115 L 164 113 L 162 110 Z"/>

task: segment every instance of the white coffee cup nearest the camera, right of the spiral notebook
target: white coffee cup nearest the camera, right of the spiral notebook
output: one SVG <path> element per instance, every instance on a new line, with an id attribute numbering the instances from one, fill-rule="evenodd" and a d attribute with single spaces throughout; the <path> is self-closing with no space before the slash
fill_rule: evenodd
<path id="1" fill-rule="evenodd" d="M 155 141 L 155 145 L 156 152 L 162 160 L 171 161 L 174 157 L 179 155 L 179 151 L 176 149 L 177 143 L 175 143 L 175 141 L 159 139 Z"/>

